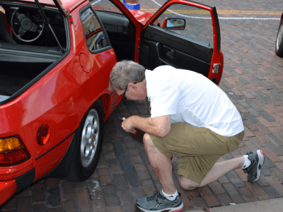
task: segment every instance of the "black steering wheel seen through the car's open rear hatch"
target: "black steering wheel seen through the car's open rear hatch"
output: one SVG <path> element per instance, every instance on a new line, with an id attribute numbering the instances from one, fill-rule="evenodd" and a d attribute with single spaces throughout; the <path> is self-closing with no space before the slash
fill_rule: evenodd
<path id="1" fill-rule="evenodd" d="M 45 21 L 37 11 L 31 15 L 30 11 L 20 13 L 19 9 L 11 17 L 13 35 L 23 42 L 33 42 L 42 35 L 45 28 Z"/>

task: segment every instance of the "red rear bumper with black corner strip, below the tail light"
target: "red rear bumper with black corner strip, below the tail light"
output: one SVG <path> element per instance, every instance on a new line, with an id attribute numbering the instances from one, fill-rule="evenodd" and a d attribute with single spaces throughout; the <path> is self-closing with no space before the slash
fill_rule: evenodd
<path id="1" fill-rule="evenodd" d="M 34 179 L 35 168 L 15 179 L 0 181 L 0 205 L 4 204 L 4 202 L 10 199 L 16 192 L 20 192 L 25 187 L 28 187 Z"/>

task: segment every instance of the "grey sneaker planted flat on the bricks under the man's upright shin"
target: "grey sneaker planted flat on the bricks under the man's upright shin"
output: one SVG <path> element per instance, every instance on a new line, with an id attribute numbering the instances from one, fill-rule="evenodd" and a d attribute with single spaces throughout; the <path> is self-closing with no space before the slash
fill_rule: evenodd
<path id="1" fill-rule="evenodd" d="M 162 191 L 155 192 L 152 196 L 145 196 L 137 199 L 137 207 L 141 211 L 154 211 L 154 212 L 179 212 L 184 208 L 184 204 L 181 199 L 181 194 L 176 197 L 175 200 L 170 201 L 162 194 Z"/>

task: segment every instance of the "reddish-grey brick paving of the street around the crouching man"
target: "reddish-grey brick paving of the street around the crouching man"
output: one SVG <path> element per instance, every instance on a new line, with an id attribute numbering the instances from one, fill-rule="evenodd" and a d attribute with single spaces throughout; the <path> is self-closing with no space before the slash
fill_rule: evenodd
<path id="1" fill-rule="evenodd" d="M 162 0 L 163 1 L 163 0 Z M 160 1 L 160 3 L 162 3 Z M 283 11 L 280 0 L 220 1 L 218 11 Z M 156 8 L 148 0 L 148 8 Z M 142 7 L 143 5 L 141 5 Z M 269 15 L 222 14 L 219 17 L 279 18 Z M 185 191 L 178 184 L 178 158 L 173 158 L 173 176 L 182 194 L 185 211 L 225 206 L 283 196 L 283 58 L 275 56 L 279 20 L 220 19 L 224 73 L 220 88 L 236 105 L 245 125 L 245 136 L 236 151 L 221 160 L 236 158 L 262 148 L 265 165 L 258 182 L 250 183 L 241 169 L 229 172 L 206 187 Z M 122 131 L 118 117 L 149 116 L 147 105 L 121 102 L 105 123 L 103 152 L 98 167 L 85 182 L 48 178 L 13 196 L 0 211 L 127 212 L 139 211 L 137 198 L 161 189 L 144 146 Z"/>

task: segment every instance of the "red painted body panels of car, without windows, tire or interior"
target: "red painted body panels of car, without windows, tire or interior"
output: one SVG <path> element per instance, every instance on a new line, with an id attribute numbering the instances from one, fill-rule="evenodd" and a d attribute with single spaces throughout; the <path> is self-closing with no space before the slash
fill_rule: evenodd
<path id="1" fill-rule="evenodd" d="M 16 6 L 21 7 L 24 4 L 34 6 L 33 2 L 21 1 L 21 4 Z M 139 56 L 144 51 L 144 46 L 141 48 L 141 45 L 146 40 L 144 37 L 147 35 L 147 27 L 156 21 L 158 14 L 165 11 L 168 6 L 175 3 L 190 4 L 209 11 L 212 14 L 214 42 L 213 47 L 210 47 L 212 55 L 209 57 L 211 62 L 207 65 L 209 69 L 206 75 L 219 84 L 224 59 L 220 50 L 220 31 L 215 8 L 190 1 L 171 0 L 152 14 L 128 10 L 119 0 L 112 2 L 124 13 L 135 31 L 132 57 L 126 59 L 137 62 L 141 62 L 141 58 L 146 61 L 144 58 L 147 52 L 142 57 Z M 44 6 L 48 4 L 54 6 L 54 1 L 51 0 L 40 0 L 40 3 Z M 8 0 L 0 1 L 0 5 L 4 7 L 11 4 L 13 3 Z M 80 124 L 84 123 L 83 117 L 95 102 L 99 102 L 105 121 L 120 100 L 117 93 L 108 90 L 110 71 L 117 62 L 115 49 L 109 46 L 93 54 L 86 45 L 81 11 L 89 6 L 90 2 L 62 0 L 61 4 L 64 6 L 62 19 L 67 26 L 67 50 L 62 57 L 50 63 L 45 71 L 23 88 L 0 100 L 0 205 L 13 194 L 42 177 L 68 176 L 70 167 L 67 164 L 71 163 L 72 155 L 76 151 L 76 148 L 71 148 L 71 143 L 79 141 L 75 137 L 79 132 Z M 57 8 L 52 9 L 57 10 Z M 4 55 L 0 51 L 1 54 Z M 141 62 L 141 64 L 145 63 Z M 215 64 L 218 67 L 217 71 Z M 8 71 L 8 68 L 6 70 Z M 6 151 L 1 151 L 1 142 L 8 143 L 10 142 L 8 139 L 16 139 L 13 141 L 20 143 L 18 144 L 20 146 L 9 148 L 7 151 L 2 145 Z M 40 139 L 43 141 L 39 141 Z M 100 152 L 100 149 L 98 151 Z M 17 153 L 21 154 L 16 155 Z"/>

